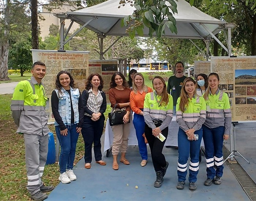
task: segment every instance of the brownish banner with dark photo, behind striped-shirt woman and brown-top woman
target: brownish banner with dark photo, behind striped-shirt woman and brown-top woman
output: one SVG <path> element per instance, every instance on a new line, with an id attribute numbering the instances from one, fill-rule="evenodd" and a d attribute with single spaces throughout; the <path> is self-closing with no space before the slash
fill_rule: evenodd
<path id="1" fill-rule="evenodd" d="M 102 91 L 106 94 L 107 103 L 109 102 L 109 83 L 114 72 L 118 71 L 117 60 L 90 60 L 89 75 L 97 72 L 102 76 L 104 86 Z"/>

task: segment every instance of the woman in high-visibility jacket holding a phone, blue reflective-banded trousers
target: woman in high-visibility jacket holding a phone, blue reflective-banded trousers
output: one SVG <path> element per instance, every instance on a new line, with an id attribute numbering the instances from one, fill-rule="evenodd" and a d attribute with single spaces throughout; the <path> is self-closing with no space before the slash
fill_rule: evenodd
<path id="1" fill-rule="evenodd" d="M 206 103 L 196 94 L 196 82 L 187 77 L 181 88 L 181 95 L 176 105 L 178 131 L 178 184 L 177 189 L 184 189 L 189 163 L 189 190 L 196 190 L 196 176 L 199 172 L 199 150 L 202 141 L 202 125 L 206 119 Z"/>

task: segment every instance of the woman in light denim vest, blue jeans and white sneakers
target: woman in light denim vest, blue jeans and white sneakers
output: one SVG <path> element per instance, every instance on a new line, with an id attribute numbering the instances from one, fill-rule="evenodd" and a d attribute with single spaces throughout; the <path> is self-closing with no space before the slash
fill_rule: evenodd
<path id="1" fill-rule="evenodd" d="M 67 71 L 60 71 L 56 78 L 56 89 L 52 92 L 52 113 L 55 130 L 60 142 L 60 177 L 62 183 L 76 180 L 72 168 L 76 143 L 83 124 L 83 102 L 74 79 Z"/>

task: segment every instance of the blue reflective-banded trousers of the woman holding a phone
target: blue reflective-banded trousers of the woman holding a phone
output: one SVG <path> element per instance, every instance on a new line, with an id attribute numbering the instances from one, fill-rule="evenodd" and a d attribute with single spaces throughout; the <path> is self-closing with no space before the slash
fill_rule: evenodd
<path id="1" fill-rule="evenodd" d="M 196 182 L 197 174 L 199 172 L 199 150 L 203 136 L 203 129 L 196 130 L 194 134 L 198 135 L 198 140 L 188 140 L 187 134 L 179 128 L 178 131 L 178 181 L 185 181 L 187 176 L 188 157 L 189 162 L 189 182 Z"/>

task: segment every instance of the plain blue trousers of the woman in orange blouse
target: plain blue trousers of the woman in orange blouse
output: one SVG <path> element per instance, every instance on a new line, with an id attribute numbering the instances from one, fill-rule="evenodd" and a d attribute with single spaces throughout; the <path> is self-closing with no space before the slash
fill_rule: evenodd
<path id="1" fill-rule="evenodd" d="M 136 131 L 141 158 L 142 160 L 147 160 L 147 144 L 142 136 L 145 130 L 145 120 L 143 115 L 135 113 L 133 115 L 133 125 Z"/>

